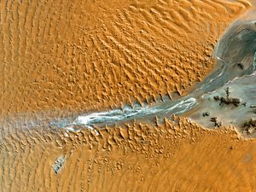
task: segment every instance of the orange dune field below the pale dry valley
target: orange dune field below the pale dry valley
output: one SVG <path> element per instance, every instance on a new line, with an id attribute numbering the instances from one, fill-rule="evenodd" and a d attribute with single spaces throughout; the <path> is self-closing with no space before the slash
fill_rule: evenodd
<path id="1" fill-rule="evenodd" d="M 135 123 L 58 134 L 17 131 L 0 149 L 1 191 L 255 191 L 256 143 L 230 128 Z M 66 158 L 55 174 L 55 160 Z"/>

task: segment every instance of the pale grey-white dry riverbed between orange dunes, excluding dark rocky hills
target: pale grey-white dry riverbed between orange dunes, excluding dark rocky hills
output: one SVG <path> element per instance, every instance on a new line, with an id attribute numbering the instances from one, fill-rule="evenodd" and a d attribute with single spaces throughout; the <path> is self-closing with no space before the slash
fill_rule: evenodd
<path id="1" fill-rule="evenodd" d="M 187 113 L 191 119 L 199 123 L 203 122 L 202 124 L 207 125 L 207 127 L 214 125 L 209 119 L 202 117 L 203 111 L 211 113 L 209 118 L 215 118 L 216 114 L 221 113 L 220 119 L 224 119 L 222 120 L 224 125 L 232 123 L 241 126 L 241 123 L 244 123 L 247 119 L 255 117 L 248 106 L 256 103 L 254 98 L 256 76 L 253 74 L 256 65 L 255 41 L 256 22 L 253 18 L 247 18 L 247 20 L 241 18 L 230 26 L 218 42 L 215 49 L 217 65 L 213 72 L 201 84 L 198 84 L 188 96 L 172 101 L 157 102 L 153 106 L 135 104 L 133 108 L 125 107 L 106 112 L 80 114 L 73 122 L 64 125 L 64 127 L 70 125 L 85 125 L 88 127 L 111 125 L 131 119 L 152 120 L 155 116 L 163 119 L 168 115 L 170 116 L 170 114 L 183 115 L 183 113 Z M 242 86 L 243 84 L 247 85 Z M 238 108 L 236 106 L 237 108 L 233 108 L 232 112 L 229 113 L 230 108 L 213 108 L 212 104 L 207 102 L 209 98 L 216 96 L 227 86 L 230 86 L 232 96 L 243 98 L 243 101 L 247 102 L 247 106 L 243 102 L 244 107 L 240 106 Z M 240 87 L 240 90 L 237 90 L 238 87 Z M 189 112 L 191 109 L 193 110 Z M 208 120 L 207 123 L 206 120 Z"/>

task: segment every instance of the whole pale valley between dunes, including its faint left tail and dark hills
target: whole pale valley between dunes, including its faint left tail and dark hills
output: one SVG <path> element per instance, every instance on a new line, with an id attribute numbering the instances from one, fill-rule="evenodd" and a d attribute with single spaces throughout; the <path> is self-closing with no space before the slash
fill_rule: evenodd
<path id="1" fill-rule="evenodd" d="M 247 15 L 254 15 L 253 11 Z M 253 44 L 256 39 L 255 23 L 256 21 L 251 16 L 246 20 L 236 20 L 229 27 L 214 50 L 217 64 L 212 73 L 207 75 L 201 83 L 196 84 L 187 96 L 162 97 L 161 100 L 155 101 L 152 105 L 148 105 L 147 102 L 137 102 L 131 107 L 125 105 L 123 108 L 108 111 L 84 114 L 73 113 L 72 118 L 51 120 L 47 126 L 55 125 L 69 131 L 75 131 L 78 130 L 80 125 L 85 125 L 93 130 L 94 126 L 120 124 L 131 119 L 140 121 L 147 119 L 152 122 L 157 117 L 160 122 L 163 122 L 163 119 L 168 118 L 170 114 L 185 114 L 187 116 L 189 114 L 189 117 L 193 120 L 208 127 L 230 124 L 236 125 L 237 128 L 240 127 L 244 131 L 244 128 L 247 129 L 247 121 L 253 123 L 254 110 L 252 108 L 255 108 L 256 103 L 254 94 L 256 91 L 254 89 L 256 47 Z M 224 87 L 226 87 L 226 96 L 220 93 L 220 90 L 224 90 Z M 240 88 L 237 89 L 238 87 Z M 230 91 L 232 96 L 235 94 L 236 97 L 230 96 Z M 245 97 L 243 101 L 239 98 L 239 94 L 240 97 Z M 207 102 L 211 100 L 211 97 L 214 102 Z M 230 108 L 230 106 L 232 107 Z M 219 113 L 220 111 L 225 113 Z M 205 118 L 206 116 L 208 118 Z M 22 120 L 24 118 L 21 118 Z M 34 119 L 32 120 L 34 122 L 32 121 L 25 126 L 35 126 L 35 124 L 42 126 L 42 123 L 36 123 Z M 75 128 L 75 126 L 77 127 Z M 250 133 L 250 137 L 252 136 Z"/>

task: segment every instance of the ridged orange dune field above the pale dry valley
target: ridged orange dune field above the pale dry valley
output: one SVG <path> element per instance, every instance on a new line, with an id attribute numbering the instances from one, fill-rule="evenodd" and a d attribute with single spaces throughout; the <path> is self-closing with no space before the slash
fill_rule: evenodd
<path id="1" fill-rule="evenodd" d="M 3 1 L 1 113 L 96 110 L 183 93 L 247 1 Z"/>

